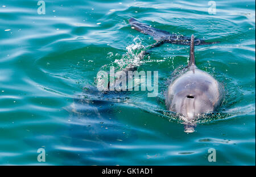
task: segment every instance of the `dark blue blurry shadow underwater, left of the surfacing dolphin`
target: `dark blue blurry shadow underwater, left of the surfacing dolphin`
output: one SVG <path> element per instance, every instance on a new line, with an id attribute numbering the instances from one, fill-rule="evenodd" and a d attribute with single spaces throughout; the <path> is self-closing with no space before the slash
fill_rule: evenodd
<path id="1" fill-rule="evenodd" d="M 81 98 L 74 99 L 69 109 L 69 142 L 72 147 L 84 149 L 67 152 L 68 159 L 76 159 L 81 165 L 117 165 L 117 156 L 123 150 L 112 145 L 133 141 L 136 137 L 126 125 L 118 120 L 119 103 L 127 99 L 125 92 L 104 94 L 95 87 L 84 90 Z"/>

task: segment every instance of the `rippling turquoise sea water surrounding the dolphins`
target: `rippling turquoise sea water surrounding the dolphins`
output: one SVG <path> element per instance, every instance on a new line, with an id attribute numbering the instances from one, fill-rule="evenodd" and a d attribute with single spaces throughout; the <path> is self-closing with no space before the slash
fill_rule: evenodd
<path id="1" fill-rule="evenodd" d="M 209 14 L 208 1 L 59 0 L 45 1 L 44 15 L 37 2 L 0 2 L 1 165 L 255 165 L 255 1 L 215 1 Z M 155 43 L 131 29 L 131 17 L 220 41 L 195 48 L 197 67 L 225 86 L 219 114 L 195 132 L 163 113 L 188 46 L 164 44 L 138 68 L 159 72 L 157 97 L 93 89 L 98 71 Z"/>

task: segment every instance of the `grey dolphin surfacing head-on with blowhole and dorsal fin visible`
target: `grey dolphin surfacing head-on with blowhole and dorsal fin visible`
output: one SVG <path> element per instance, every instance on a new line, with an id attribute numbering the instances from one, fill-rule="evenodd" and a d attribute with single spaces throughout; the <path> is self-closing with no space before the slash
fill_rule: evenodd
<path id="1" fill-rule="evenodd" d="M 185 132 L 193 132 L 191 123 L 201 113 L 216 111 L 224 99 L 223 86 L 212 75 L 195 65 L 194 36 L 191 36 L 187 71 L 170 83 L 166 93 L 168 111 L 180 113 L 185 120 Z"/>

